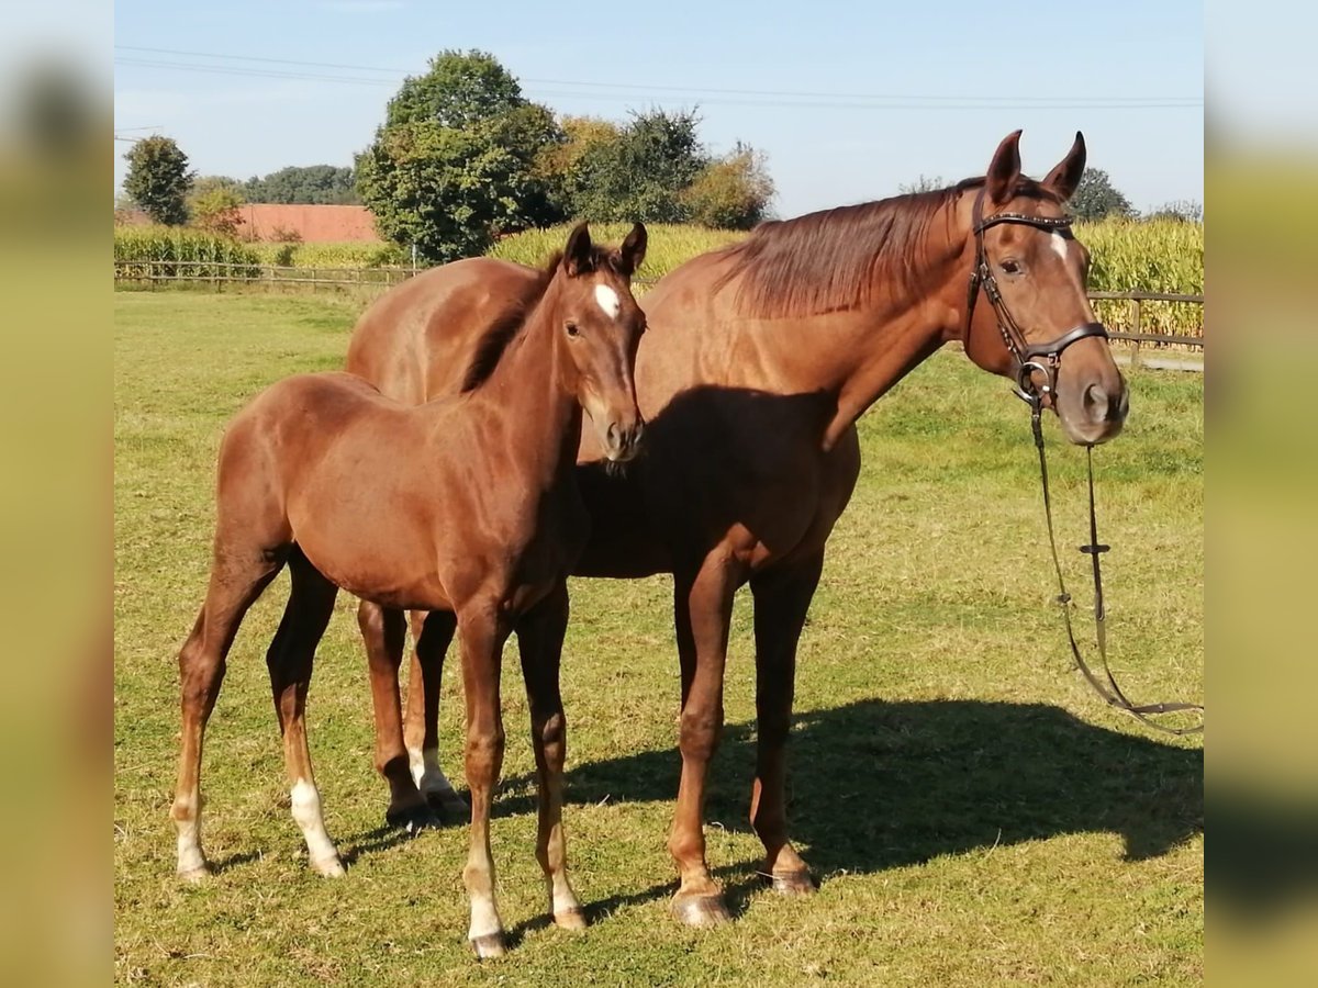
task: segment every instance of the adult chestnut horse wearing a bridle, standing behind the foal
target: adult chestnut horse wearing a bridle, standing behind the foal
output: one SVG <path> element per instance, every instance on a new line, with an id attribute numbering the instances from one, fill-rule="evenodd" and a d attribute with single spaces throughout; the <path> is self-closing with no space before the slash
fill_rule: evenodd
<path id="1" fill-rule="evenodd" d="M 1086 298 L 1089 254 L 1062 209 L 1085 170 L 1083 137 L 1041 182 L 1021 174 L 1019 137 L 1002 141 L 985 178 L 762 224 L 676 269 L 641 300 L 650 329 L 637 356 L 646 454 L 616 474 L 598 468 L 594 439 L 583 440 L 592 532 L 573 572 L 673 574 L 681 782 L 668 848 L 681 877 L 673 912 L 688 923 L 726 917 L 701 822 L 724 719 L 733 595 L 746 582 L 757 652 L 751 823 L 774 887 L 813 888 L 788 842 L 784 742 L 797 638 L 859 470 L 857 418 L 960 340 L 985 370 L 1046 386 L 1045 404 L 1073 443 L 1101 443 L 1122 428 L 1126 383 Z M 418 275 L 362 316 L 348 369 L 403 400 L 448 394 L 482 328 L 534 278 L 494 260 Z M 975 306 L 981 294 L 988 300 Z M 368 640 L 402 634 L 401 615 L 366 606 L 360 618 Z M 427 620 L 409 689 L 407 747 L 422 790 L 436 798 L 448 792 L 435 705 L 451 635 L 444 615 Z M 523 656 L 535 647 L 522 639 Z M 395 682 L 374 696 L 390 690 Z M 382 743 L 402 755 L 402 738 Z"/>

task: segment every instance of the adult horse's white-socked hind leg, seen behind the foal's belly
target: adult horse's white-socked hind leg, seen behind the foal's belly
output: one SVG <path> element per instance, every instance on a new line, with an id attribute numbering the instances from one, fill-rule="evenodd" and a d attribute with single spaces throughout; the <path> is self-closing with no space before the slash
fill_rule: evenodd
<path id="1" fill-rule="evenodd" d="M 471 806 L 453 790 L 439 768 L 439 692 L 444 653 L 457 630 L 452 611 L 413 611 L 411 674 L 407 680 L 407 714 L 403 736 L 413 780 L 430 808 L 448 819 L 467 819 Z"/>

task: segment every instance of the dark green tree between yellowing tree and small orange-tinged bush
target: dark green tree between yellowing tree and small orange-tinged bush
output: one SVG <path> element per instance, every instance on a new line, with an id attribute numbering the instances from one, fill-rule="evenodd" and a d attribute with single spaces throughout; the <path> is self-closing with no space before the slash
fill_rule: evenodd
<path id="1" fill-rule="evenodd" d="M 684 223 L 684 191 L 709 165 L 693 112 L 634 113 L 610 141 L 592 144 L 567 180 L 567 206 L 585 220 Z"/>

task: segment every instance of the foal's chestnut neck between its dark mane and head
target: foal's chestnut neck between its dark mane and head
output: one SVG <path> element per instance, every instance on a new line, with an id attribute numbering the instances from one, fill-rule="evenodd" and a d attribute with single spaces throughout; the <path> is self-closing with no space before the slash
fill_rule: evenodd
<path id="1" fill-rule="evenodd" d="M 552 486 L 576 462 L 581 404 L 567 385 L 571 358 L 560 320 L 558 278 L 526 317 L 474 399 L 498 419 L 509 461 L 540 489 Z"/>

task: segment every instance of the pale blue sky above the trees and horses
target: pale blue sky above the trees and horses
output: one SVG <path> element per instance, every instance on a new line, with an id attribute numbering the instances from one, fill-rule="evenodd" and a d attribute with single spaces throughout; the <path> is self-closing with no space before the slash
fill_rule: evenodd
<path id="1" fill-rule="evenodd" d="M 1201 4 L 887 7 L 121 0 L 115 126 L 174 137 L 203 174 L 349 165 L 405 74 L 477 47 L 558 112 L 699 108 L 712 150 L 742 140 L 766 151 L 782 216 L 891 195 L 921 174 L 982 174 L 1016 128 L 1032 174 L 1079 129 L 1090 163 L 1136 207 L 1202 202 Z"/>

